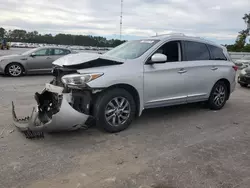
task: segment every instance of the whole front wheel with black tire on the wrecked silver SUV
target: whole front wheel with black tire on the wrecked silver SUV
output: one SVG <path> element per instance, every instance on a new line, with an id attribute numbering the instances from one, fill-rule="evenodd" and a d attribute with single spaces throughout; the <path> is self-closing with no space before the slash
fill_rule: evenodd
<path id="1" fill-rule="evenodd" d="M 135 118 L 136 104 L 125 89 L 115 88 L 102 93 L 95 104 L 96 125 L 106 132 L 120 132 Z"/>

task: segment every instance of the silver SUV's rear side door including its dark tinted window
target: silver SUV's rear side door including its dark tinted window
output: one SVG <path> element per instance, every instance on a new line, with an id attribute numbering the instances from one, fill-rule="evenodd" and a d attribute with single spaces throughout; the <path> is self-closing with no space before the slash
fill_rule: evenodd
<path id="1" fill-rule="evenodd" d="M 188 102 L 198 102 L 209 97 L 215 82 L 214 63 L 211 60 L 208 46 L 197 41 L 183 41 L 184 62 L 187 66 L 189 80 Z"/>

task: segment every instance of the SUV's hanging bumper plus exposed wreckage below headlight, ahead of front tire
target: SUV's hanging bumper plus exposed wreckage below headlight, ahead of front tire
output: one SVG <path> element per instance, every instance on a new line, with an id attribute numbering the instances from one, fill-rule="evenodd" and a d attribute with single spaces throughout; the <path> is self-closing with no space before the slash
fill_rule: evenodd
<path id="1" fill-rule="evenodd" d="M 85 123 L 90 118 L 91 91 L 62 87 L 59 77 L 62 75 L 55 76 L 41 93 L 35 93 L 37 107 L 33 108 L 30 116 L 18 118 L 12 102 L 14 125 L 26 138 L 43 137 L 44 132 L 87 128 Z"/>

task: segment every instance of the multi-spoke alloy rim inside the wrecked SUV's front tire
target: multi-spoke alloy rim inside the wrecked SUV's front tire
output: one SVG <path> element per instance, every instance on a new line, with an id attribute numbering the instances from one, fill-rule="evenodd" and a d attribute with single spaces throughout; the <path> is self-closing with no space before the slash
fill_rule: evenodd
<path id="1" fill-rule="evenodd" d="M 111 126 L 120 126 L 130 117 L 129 101 L 124 97 L 113 98 L 105 108 L 105 119 Z"/>

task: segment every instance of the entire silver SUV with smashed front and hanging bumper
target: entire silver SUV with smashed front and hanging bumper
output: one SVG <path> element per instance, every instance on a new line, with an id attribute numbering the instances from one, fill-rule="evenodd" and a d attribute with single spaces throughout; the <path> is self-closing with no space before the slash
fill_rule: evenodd
<path id="1" fill-rule="evenodd" d="M 219 110 L 237 71 L 225 47 L 182 34 L 129 41 L 102 55 L 71 54 L 53 65 L 54 79 L 36 93 L 32 117 L 20 121 L 13 105 L 23 130 L 74 130 L 93 117 L 118 132 L 148 108 L 206 101 Z"/>

